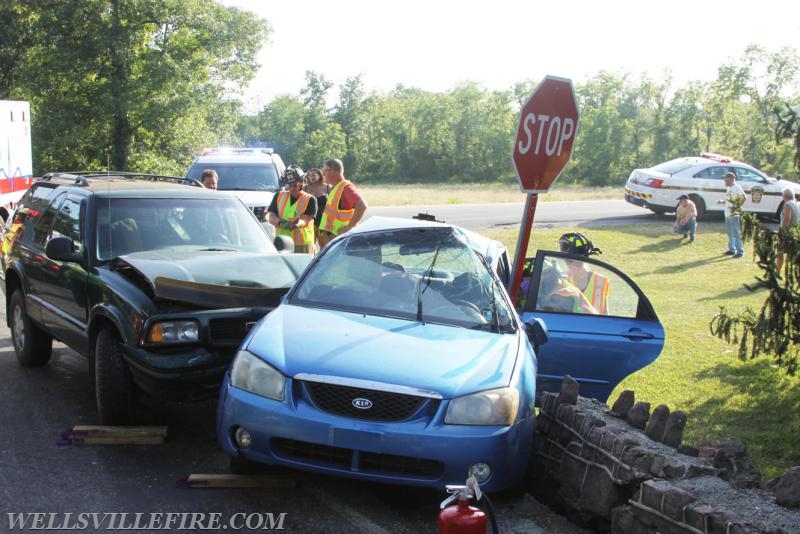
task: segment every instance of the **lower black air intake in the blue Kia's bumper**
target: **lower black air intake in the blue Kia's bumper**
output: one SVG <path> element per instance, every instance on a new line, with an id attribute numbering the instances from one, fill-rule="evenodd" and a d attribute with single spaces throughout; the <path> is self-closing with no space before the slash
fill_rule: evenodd
<path id="1" fill-rule="evenodd" d="M 285 438 L 273 438 L 271 445 L 277 456 L 288 460 L 359 473 L 437 479 L 444 472 L 442 462 L 424 458 L 355 451 Z"/>

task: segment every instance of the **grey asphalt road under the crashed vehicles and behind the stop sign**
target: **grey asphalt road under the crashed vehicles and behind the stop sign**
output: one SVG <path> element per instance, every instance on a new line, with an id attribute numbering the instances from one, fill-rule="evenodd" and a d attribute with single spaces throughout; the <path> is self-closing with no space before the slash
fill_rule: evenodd
<path id="1" fill-rule="evenodd" d="M 590 220 L 586 204 L 560 204 L 560 208 L 546 216 L 554 221 L 547 224 L 556 224 L 556 220 L 564 224 Z M 597 211 L 608 209 L 609 204 L 617 207 Z M 619 204 L 592 203 L 591 209 L 609 220 L 634 220 L 637 214 L 619 213 Z M 551 207 L 547 204 L 541 207 L 543 221 Z M 371 214 L 406 217 L 418 213 L 416 207 L 407 209 L 410 211 L 402 208 L 388 213 L 388 209 L 374 208 Z M 429 212 L 435 209 L 440 219 L 461 220 L 464 226 L 479 230 L 487 221 L 491 221 L 491 227 L 513 226 L 514 217 L 518 216 L 514 210 L 521 212 L 522 205 L 500 205 L 500 213 L 486 206 L 424 209 Z M 283 530 L 298 533 L 436 532 L 438 505 L 446 495 L 432 490 L 295 471 L 280 474 L 280 480 L 295 484 L 291 488 L 181 487 L 180 481 L 190 474 L 228 473 L 227 457 L 214 435 L 214 401 L 143 407 L 141 424 L 168 427 L 167 440 L 162 445 L 59 444 L 62 434 L 73 426 L 97 424 L 86 360 L 56 343 L 48 365 L 21 367 L 14 355 L 4 311 L 3 306 L 0 309 L 0 533 L 19 531 L 10 529 L 9 514 L 16 518 L 21 513 L 54 514 L 42 516 L 43 523 L 39 524 L 40 527 L 50 524 L 51 532 L 70 531 L 58 527 L 76 526 L 78 514 L 98 514 L 84 516 L 89 518 L 88 531 L 110 531 L 109 525 L 130 527 L 137 525 L 133 519 L 137 513 L 142 514 L 138 525 L 144 528 L 126 532 L 156 532 L 146 525 L 155 520 L 157 513 L 202 513 L 206 514 L 205 525 L 211 520 L 209 514 L 219 514 L 223 526 L 234 517 L 238 523 L 233 526 L 239 526 L 245 518 L 255 525 L 267 517 L 265 514 L 273 514 L 274 521 L 280 514 L 286 514 L 280 524 Z M 502 532 L 582 532 L 529 497 L 494 497 Z M 118 514 L 114 518 L 104 516 L 114 513 Z M 126 519 L 119 515 L 123 513 L 128 514 Z M 65 514 L 72 514 L 71 523 Z M 162 516 L 160 524 L 164 524 L 165 517 Z M 28 526 L 33 526 L 33 519 L 28 519 Z M 96 530 L 92 525 L 95 519 L 101 521 Z M 172 530 L 178 531 L 180 521 L 188 524 L 191 516 L 179 516 Z M 245 527 L 235 531 L 256 530 Z"/>

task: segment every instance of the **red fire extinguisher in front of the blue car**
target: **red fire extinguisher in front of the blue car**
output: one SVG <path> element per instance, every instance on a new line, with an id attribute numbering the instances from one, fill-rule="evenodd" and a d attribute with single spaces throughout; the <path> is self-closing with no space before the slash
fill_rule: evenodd
<path id="1" fill-rule="evenodd" d="M 477 506 L 470 505 L 470 499 L 483 501 L 489 511 L 488 518 L 492 531 L 499 534 L 494 507 L 489 497 L 481 491 L 475 477 L 469 477 L 464 486 L 447 485 L 448 498 L 442 501 L 439 508 L 439 534 L 486 534 L 487 514 Z M 455 504 L 452 504 L 455 501 Z"/>

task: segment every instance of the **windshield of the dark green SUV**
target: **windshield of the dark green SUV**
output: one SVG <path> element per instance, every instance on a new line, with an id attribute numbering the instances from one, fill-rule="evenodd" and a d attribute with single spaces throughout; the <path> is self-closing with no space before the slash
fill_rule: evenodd
<path id="1" fill-rule="evenodd" d="M 237 199 L 103 198 L 97 206 L 97 257 L 174 247 L 276 252 Z"/>

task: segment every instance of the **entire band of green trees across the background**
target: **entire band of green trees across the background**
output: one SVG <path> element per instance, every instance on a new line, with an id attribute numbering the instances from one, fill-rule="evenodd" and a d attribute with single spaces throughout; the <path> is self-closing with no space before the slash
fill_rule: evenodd
<path id="1" fill-rule="evenodd" d="M 31 102 L 36 174 L 182 175 L 203 147 L 234 145 L 271 146 L 303 168 L 338 156 L 361 183 L 511 183 L 519 109 L 537 83 L 379 92 L 309 71 L 297 94 L 246 113 L 239 97 L 271 32 L 252 13 L 212 0 L 6 0 L 0 24 L 0 98 Z M 621 185 L 636 167 L 702 151 L 796 180 L 798 89 L 792 48 L 750 46 L 713 81 L 683 86 L 601 71 L 575 84 L 580 125 L 561 181 Z"/>

